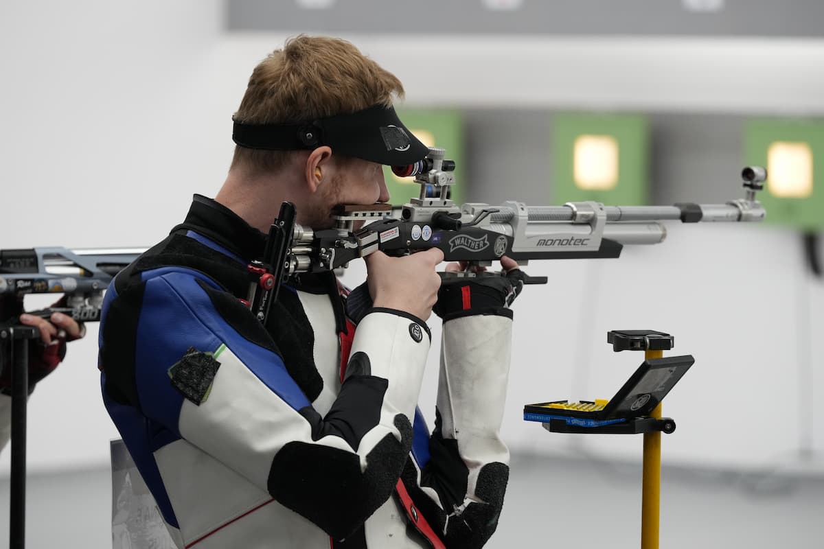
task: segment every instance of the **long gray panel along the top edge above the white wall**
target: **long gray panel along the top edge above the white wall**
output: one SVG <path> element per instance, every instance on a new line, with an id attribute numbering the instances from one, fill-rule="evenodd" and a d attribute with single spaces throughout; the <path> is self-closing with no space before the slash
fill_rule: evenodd
<path id="1" fill-rule="evenodd" d="M 721 9 L 691 12 L 677 0 L 524 0 L 513 11 L 490 11 L 480 0 L 375 2 L 336 0 L 305 9 L 294 0 L 229 0 L 228 30 L 306 32 L 822 36 L 824 2 L 726 0 Z M 707 3 L 707 2 L 703 2 Z"/>

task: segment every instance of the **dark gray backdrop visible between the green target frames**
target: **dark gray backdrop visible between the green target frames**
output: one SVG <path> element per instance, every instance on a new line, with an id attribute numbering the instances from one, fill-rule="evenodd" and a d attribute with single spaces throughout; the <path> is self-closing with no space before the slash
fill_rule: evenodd
<path id="1" fill-rule="evenodd" d="M 465 189 L 466 202 L 557 202 L 550 111 L 471 109 L 463 116 L 466 179 L 458 184 Z M 745 117 L 733 115 L 650 114 L 650 202 L 741 198 L 744 122 Z"/>

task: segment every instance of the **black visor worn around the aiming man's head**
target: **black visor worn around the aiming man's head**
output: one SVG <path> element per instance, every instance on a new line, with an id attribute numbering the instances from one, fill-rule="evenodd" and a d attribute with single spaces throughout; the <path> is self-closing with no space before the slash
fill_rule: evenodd
<path id="1" fill-rule="evenodd" d="M 235 122 L 232 141 L 239 147 L 269 151 L 327 145 L 335 153 L 385 165 L 413 164 L 429 152 L 400 122 L 395 109 L 382 105 L 302 124 Z"/>

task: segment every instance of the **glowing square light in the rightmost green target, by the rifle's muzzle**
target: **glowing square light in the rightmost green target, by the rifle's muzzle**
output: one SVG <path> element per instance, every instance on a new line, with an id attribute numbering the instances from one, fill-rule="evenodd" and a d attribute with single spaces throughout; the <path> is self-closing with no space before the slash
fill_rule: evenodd
<path id="1" fill-rule="evenodd" d="M 778 198 L 812 195 L 812 149 L 807 142 L 777 141 L 767 149 L 767 189 Z"/>

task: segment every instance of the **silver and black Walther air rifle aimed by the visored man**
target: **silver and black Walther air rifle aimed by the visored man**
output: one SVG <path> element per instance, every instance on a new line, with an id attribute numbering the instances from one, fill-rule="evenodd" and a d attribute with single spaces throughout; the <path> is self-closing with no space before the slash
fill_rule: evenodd
<path id="1" fill-rule="evenodd" d="M 295 207 L 283 202 L 269 233 L 269 253 L 256 268 L 266 272 L 267 288 L 252 284 L 250 307 L 265 318 L 266 297 L 279 284 L 300 272 L 321 272 L 345 267 L 356 258 L 378 250 L 405 255 L 439 248 L 445 261 L 468 262 L 466 272 L 445 276 L 494 276 L 476 273 L 472 266 L 489 265 L 506 255 L 521 265 L 532 259 L 617 258 L 629 244 L 658 244 L 667 236 L 663 221 L 761 221 L 765 210 L 756 200 L 763 189 L 766 170 L 742 170 L 744 198 L 724 204 L 679 203 L 674 206 L 604 206 L 599 202 L 567 202 L 563 206 L 527 206 L 503 202 L 500 206 L 466 203 L 458 207 L 449 198 L 455 184 L 455 162 L 444 150 L 430 148 L 423 161 L 395 166 L 404 177 L 414 175 L 418 198 L 396 209 L 388 204 L 343 206 L 335 212 L 335 228 L 312 230 L 298 225 Z M 358 227 L 358 221 L 371 221 Z M 358 224 L 358 225 L 356 225 Z M 276 241 L 276 242 L 275 242 Z M 544 283 L 545 277 L 527 277 L 527 283 Z M 263 297 L 255 286 L 264 287 Z M 257 304 L 257 305 L 255 305 Z"/>

